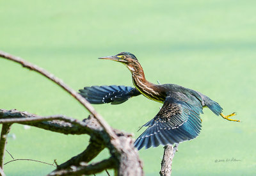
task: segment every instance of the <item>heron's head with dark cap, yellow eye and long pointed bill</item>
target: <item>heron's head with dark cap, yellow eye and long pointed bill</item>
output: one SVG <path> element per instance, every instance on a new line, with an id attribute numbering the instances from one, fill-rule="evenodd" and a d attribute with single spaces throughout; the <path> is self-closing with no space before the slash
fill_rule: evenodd
<path id="1" fill-rule="evenodd" d="M 124 63 L 125 65 L 134 63 L 134 61 L 138 62 L 137 58 L 130 52 L 120 52 L 115 56 L 106 56 L 99 59 L 118 61 L 118 62 Z"/>

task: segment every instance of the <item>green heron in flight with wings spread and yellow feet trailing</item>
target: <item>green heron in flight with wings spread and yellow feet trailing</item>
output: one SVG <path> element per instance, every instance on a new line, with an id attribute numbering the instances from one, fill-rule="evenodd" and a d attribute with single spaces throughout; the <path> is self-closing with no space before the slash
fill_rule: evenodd
<path id="1" fill-rule="evenodd" d="M 145 79 L 143 68 L 137 58 L 130 52 L 121 52 L 115 56 L 99 58 L 123 63 L 132 74 L 135 88 L 130 86 L 92 86 L 79 90 L 80 94 L 92 104 L 121 104 L 131 97 L 144 95 L 148 99 L 163 103 L 159 113 L 142 127 L 148 127 L 134 142 L 140 150 L 145 146 L 180 143 L 192 140 L 201 130 L 200 113 L 208 107 L 217 116 L 232 120 L 222 113 L 221 106 L 200 92 L 184 88 L 177 84 L 153 84 Z"/>

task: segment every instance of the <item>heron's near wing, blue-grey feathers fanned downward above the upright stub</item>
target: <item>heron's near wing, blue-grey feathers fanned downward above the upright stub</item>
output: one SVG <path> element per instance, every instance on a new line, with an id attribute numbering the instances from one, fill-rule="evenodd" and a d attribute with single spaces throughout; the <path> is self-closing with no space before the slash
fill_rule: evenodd
<path id="1" fill-rule="evenodd" d="M 199 116 L 202 104 L 199 104 L 197 107 L 183 100 L 166 97 L 159 113 L 143 125 L 148 128 L 134 142 L 135 147 L 140 150 L 144 146 L 157 147 L 196 138 L 202 127 Z"/>

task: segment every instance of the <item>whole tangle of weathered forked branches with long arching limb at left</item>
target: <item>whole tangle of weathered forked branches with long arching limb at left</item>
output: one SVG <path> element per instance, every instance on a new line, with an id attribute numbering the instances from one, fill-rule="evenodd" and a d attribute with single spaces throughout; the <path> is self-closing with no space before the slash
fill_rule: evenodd
<path id="1" fill-rule="evenodd" d="M 76 91 L 69 88 L 67 84 L 61 81 L 61 79 L 58 79 L 58 77 L 55 77 L 43 68 L 40 68 L 36 65 L 33 65 L 32 63 L 29 63 L 28 61 L 23 60 L 22 58 L 12 56 L 11 54 L 3 51 L 0 51 L 0 57 L 15 61 L 23 67 L 34 70 L 35 72 L 38 72 L 39 74 L 47 77 L 54 83 L 61 86 L 61 88 L 63 88 L 65 91 L 70 93 L 72 97 L 77 99 L 84 106 L 84 108 L 88 109 L 88 111 L 92 114 L 90 118 L 81 122 L 79 120 L 67 118 L 65 116 L 42 117 L 26 112 L 19 112 L 16 110 L 6 111 L 2 109 L 0 111 L 0 118 L 4 119 L 1 120 L 0 123 L 3 124 L 3 126 L 10 125 L 12 123 L 19 123 L 31 125 L 48 131 L 61 132 L 63 134 L 89 134 L 91 136 L 91 141 L 99 141 L 103 148 L 107 147 L 109 149 L 109 153 L 111 154 L 109 159 L 115 159 L 115 167 L 113 167 L 113 163 L 111 164 L 111 162 L 111 166 L 105 163 L 108 161 L 106 160 L 96 164 L 89 164 L 88 166 L 76 166 L 77 169 L 72 169 L 72 162 L 74 162 L 74 165 L 77 165 L 77 163 L 81 163 L 84 160 L 82 153 L 76 157 L 73 157 L 63 165 L 61 164 L 61 171 L 68 171 L 69 175 L 70 173 L 72 173 L 72 175 L 81 175 L 82 172 L 97 173 L 100 168 L 103 170 L 106 168 L 115 168 L 115 175 L 143 175 L 141 164 L 142 162 L 138 157 L 138 151 L 136 148 L 134 148 L 134 141 L 132 140 L 130 134 L 126 135 L 123 132 L 112 129 L 86 99 L 81 97 L 81 95 L 79 95 L 79 93 Z M 28 120 L 24 118 L 28 118 Z M 93 151 L 94 155 L 91 158 L 97 156 L 100 150 L 102 149 L 97 148 L 97 150 Z M 86 153 L 86 150 L 84 150 L 84 152 Z M 96 166 L 98 166 L 99 170 L 96 170 Z"/>

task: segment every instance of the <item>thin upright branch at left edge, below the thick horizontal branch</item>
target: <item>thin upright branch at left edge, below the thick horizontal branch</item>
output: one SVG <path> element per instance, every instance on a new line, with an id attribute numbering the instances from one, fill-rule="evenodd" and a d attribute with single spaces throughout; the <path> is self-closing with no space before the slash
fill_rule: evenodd
<path id="1" fill-rule="evenodd" d="M 7 134 L 10 132 L 12 124 L 3 124 L 0 138 L 0 168 L 3 170 L 4 152 L 7 143 Z"/>

